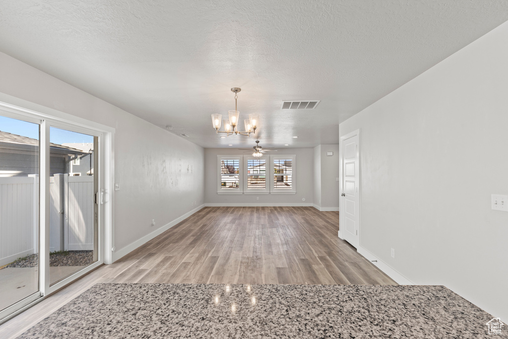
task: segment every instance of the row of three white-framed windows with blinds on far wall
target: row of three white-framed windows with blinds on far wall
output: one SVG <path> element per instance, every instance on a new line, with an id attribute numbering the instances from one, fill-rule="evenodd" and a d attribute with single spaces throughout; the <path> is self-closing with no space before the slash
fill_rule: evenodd
<path id="1" fill-rule="evenodd" d="M 217 156 L 217 194 L 296 194 L 295 159 Z"/>

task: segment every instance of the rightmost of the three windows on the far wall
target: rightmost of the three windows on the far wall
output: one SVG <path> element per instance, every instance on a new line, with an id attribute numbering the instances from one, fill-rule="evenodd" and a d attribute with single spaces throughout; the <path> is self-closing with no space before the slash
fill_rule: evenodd
<path id="1" fill-rule="evenodd" d="M 295 156 L 271 157 L 272 194 L 295 194 Z"/>

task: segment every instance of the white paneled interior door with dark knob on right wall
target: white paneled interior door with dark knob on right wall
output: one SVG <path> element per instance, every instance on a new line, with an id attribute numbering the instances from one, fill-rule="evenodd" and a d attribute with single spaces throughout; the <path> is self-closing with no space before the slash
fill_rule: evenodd
<path id="1" fill-rule="evenodd" d="M 341 225 L 343 238 L 355 248 L 359 245 L 360 228 L 360 163 L 359 135 L 342 141 L 342 194 Z"/>

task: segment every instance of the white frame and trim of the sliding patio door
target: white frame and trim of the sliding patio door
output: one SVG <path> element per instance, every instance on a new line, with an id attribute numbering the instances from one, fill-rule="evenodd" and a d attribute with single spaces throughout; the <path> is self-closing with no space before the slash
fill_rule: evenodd
<path id="1" fill-rule="evenodd" d="M 13 104 L 4 102 L 6 99 Z M 7 101 L 7 100 L 5 100 Z M 21 106 L 22 105 L 22 106 Z M 11 319 L 44 297 L 58 291 L 103 263 L 112 263 L 113 251 L 113 140 L 115 129 L 88 121 L 67 113 L 0 94 L 0 114 L 34 122 L 40 125 L 40 171 L 39 171 L 39 291 L 0 311 L 0 324 Z M 99 180 L 99 232 L 98 261 L 69 275 L 50 286 L 49 284 L 49 177 L 50 142 L 49 129 L 56 127 L 73 132 L 97 136 L 99 139 L 98 163 L 94 172 Z"/>

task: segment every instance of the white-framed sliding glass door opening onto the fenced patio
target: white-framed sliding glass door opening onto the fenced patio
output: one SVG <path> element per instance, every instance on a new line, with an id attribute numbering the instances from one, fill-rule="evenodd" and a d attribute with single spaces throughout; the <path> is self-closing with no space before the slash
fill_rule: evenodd
<path id="1" fill-rule="evenodd" d="M 102 138 L 0 106 L 0 323 L 102 264 Z"/>

